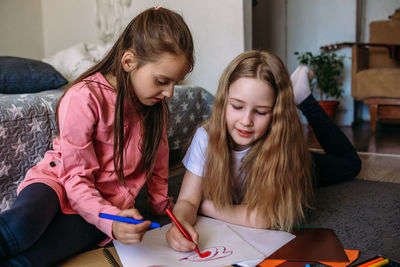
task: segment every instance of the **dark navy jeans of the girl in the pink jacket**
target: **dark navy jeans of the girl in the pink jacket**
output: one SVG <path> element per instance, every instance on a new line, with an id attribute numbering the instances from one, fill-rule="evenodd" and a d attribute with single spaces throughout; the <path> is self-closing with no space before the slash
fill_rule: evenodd
<path id="1" fill-rule="evenodd" d="M 0 266 L 49 266 L 105 238 L 81 216 L 63 214 L 51 187 L 31 184 L 0 214 Z"/>

